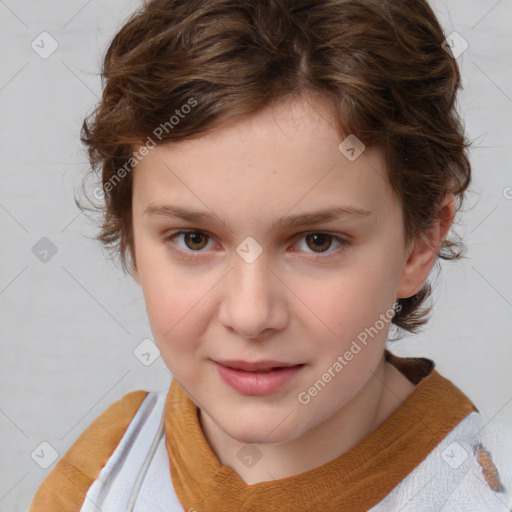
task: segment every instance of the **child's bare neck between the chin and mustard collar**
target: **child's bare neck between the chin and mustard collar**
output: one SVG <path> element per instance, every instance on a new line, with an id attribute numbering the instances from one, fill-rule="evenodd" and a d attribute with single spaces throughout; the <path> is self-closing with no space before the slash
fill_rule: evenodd
<path id="1" fill-rule="evenodd" d="M 255 445 L 264 454 L 264 467 L 247 468 L 236 455 L 243 443 L 227 435 L 202 411 L 199 421 L 221 464 L 252 485 L 298 475 L 335 459 L 373 432 L 414 388 L 383 356 L 364 386 L 327 420 L 292 441 Z"/>

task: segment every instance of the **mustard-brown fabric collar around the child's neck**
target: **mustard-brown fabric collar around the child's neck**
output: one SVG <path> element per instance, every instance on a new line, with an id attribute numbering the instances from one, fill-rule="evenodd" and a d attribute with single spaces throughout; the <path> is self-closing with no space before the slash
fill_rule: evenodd
<path id="1" fill-rule="evenodd" d="M 204 436 L 198 408 L 173 379 L 164 421 L 170 472 L 185 510 L 365 512 L 396 487 L 468 414 L 478 409 L 432 360 L 398 357 L 386 361 L 416 384 L 414 391 L 356 446 L 322 466 L 278 480 L 246 484 L 223 466 Z"/>

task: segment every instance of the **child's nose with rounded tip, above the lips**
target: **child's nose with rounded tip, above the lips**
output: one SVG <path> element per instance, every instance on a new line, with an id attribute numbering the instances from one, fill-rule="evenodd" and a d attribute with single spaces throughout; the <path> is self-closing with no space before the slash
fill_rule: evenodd
<path id="1" fill-rule="evenodd" d="M 246 339 L 263 339 L 289 321 L 287 288 L 261 255 L 247 263 L 235 258 L 224 280 L 219 318 L 222 325 Z"/>

